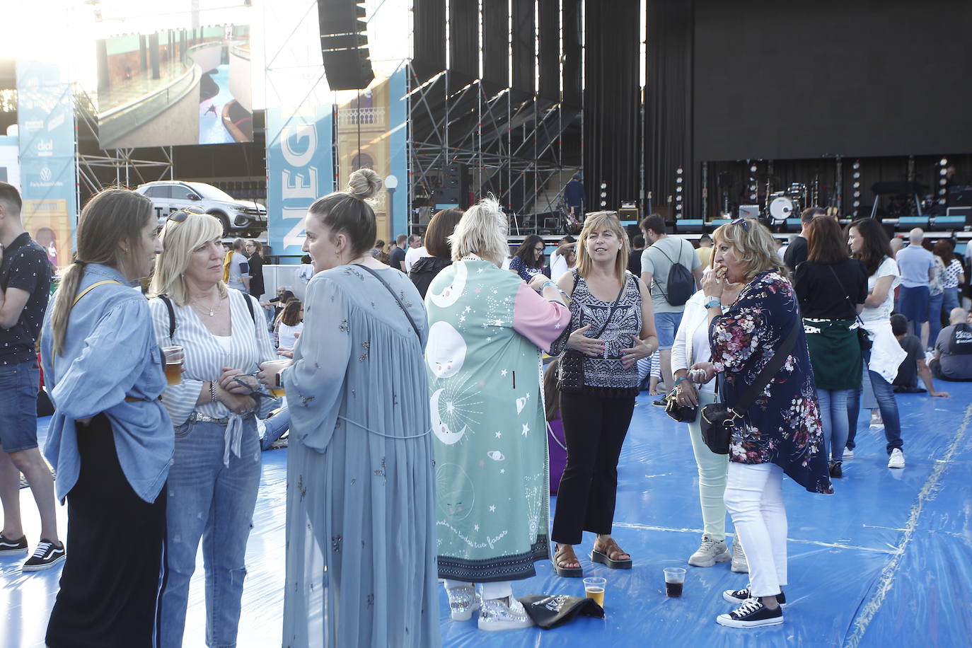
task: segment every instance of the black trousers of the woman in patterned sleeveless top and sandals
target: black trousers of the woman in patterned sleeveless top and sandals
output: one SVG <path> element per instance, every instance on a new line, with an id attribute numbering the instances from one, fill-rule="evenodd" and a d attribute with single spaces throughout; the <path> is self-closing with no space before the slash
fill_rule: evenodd
<path id="1" fill-rule="evenodd" d="M 586 393 L 561 397 L 567 467 L 557 492 L 552 538 L 579 544 L 583 531 L 610 533 L 617 495 L 617 459 L 635 411 L 634 398 Z"/>

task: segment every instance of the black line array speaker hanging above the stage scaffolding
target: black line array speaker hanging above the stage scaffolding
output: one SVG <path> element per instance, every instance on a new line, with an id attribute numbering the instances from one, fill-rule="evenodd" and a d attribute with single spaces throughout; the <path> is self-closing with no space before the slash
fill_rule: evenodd
<path id="1" fill-rule="evenodd" d="M 364 1 L 318 0 L 321 55 L 332 90 L 360 90 L 374 79 L 367 50 Z"/>

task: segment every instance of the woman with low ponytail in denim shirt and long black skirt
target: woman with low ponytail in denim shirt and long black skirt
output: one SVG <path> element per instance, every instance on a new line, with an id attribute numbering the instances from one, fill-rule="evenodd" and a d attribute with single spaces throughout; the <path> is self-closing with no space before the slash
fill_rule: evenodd
<path id="1" fill-rule="evenodd" d="M 67 497 L 71 547 L 48 624 L 54 648 L 153 645 L 172 424 L 149 305 L 134 286 L 161 252 L 157 226 L 139 193 L 91 198 L 44 323 L 56 407 L 45 455 L 57 498 Z"/>

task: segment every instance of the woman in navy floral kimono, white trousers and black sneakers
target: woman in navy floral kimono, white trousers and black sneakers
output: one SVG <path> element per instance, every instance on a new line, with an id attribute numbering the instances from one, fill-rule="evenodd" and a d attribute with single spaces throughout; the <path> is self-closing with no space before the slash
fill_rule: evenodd
<path id="1" fill-rule="evenodd" d="M 720 394 L 730 407 L 755 381 L 793 326 L 796 343 L 780 371 L 741 420 L 729 450 L 725 503 L 749 563 L 749 585 L 722 596 L 739 607 L 716 617 L 732 628 L 776 626 L 783 622 L 786 584 L 786 510 L 782 476 L 811 493 L 832 493 L 823 453 L 820 413 L 807 338 L 796 295 L 787 278 L 773 236 L 753 220 L 737 219 L 712 235 L 716 271 L 705 277 L 706 308 L 711 323 L 712 362 L 708 382 L 721 375 Z M 746 286 L 734 301 L 728 284 Z M 728 310 L 723 313 L 726 294 Z"/>

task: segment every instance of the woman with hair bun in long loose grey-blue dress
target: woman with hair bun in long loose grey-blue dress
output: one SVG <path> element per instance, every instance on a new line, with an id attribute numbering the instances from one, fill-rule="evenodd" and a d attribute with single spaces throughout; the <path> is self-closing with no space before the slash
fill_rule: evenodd
<path id="1" fill-rule="evenodd" d="M 284 646 L 440 645 L 428 335 L 418 290 L 370 255 L 373 171 L 310 208 L 292 416 Z"/>

